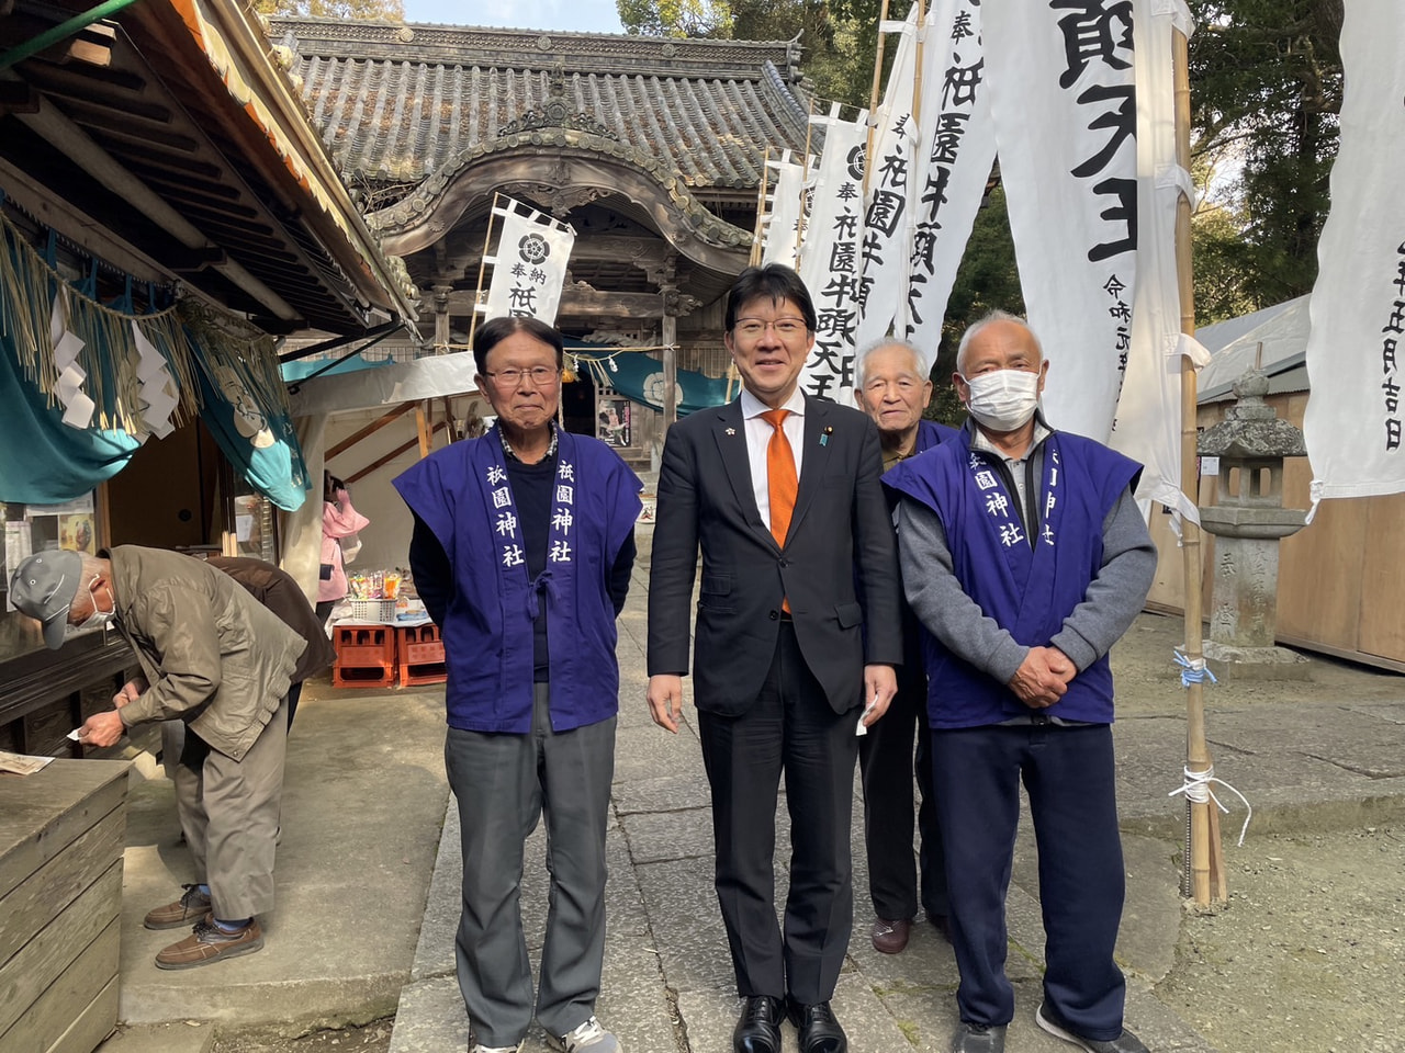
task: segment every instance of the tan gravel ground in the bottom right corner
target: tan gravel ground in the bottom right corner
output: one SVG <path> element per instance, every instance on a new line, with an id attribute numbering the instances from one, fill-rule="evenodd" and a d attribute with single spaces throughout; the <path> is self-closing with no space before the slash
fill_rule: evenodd
<path id="1" fill-rule="evenodd" d="M 1156 994 L 1222 1053 L 1405 1050 L 1405 827 L 1225 845 Z"/>

